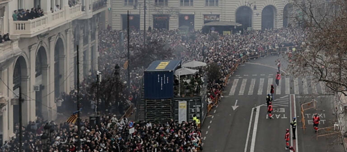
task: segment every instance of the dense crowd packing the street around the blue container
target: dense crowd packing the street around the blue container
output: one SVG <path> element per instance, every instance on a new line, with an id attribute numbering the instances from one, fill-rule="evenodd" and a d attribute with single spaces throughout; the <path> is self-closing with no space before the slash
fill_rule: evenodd
<path id="1" fill-rule="evenodd" d="M 132 31 L 130 45 L 143 45 L 142 34 Z M 208 83 L 209 101 L 214 99 L 223 91 L 225 77 L 235 66 L 236 61 L 249 53 L 262 53 L 271 48 L 286 46 L 297 47 L 301 45 L 305 32 L 299 29 L 271 29 L 262 31 L 248 31 L 243 35 L 217 35 L 192 32 L 188 34 L 180 33 L 177 30 L 159 31 L 153 29 L 147 33 L 147 41 L 160 40 L 171 48 L 176 49 L 174 54 L 177 59 L 183 61 L 204 61 L 203 51 L 206 56 L 205 62 L 210 65 L 216 63 L 222 76 L 219 81 Z M 119 31 L 101 30 L 99 31 L 99 70 L 104 75 L 112 72 L 116 66 L 120 66 L 120 77 L 126 80 L 126 71 L 122 68 L 125 62 L 125 51 L 120 50 L 121 45 L 126 48 L 126 35 L 124 42 L 119 40 Z M 205 47 L 205 49 L 203 48 Z M 173 59 L 173 58 L 172 58 Z M 124 93 L 125 103 L 136 96 L 140 87 L 140 80 L 143 70 L 146 67 L 136 68 L 131 71 L 131 88 Z M 196 74 L 195 81 L 199 81 L 201 74 Z M 88 81 L 95 79 L 95 74 L 91 73 L 82 87 L 90 85 Z M 128 83 L 128 82 L 125 82 Z M 201 83 L 201 82 L 194 82 Z M 95 97 L 81 91 L 82 98 L 86 101 L 93 101 Z M 65 100 L 73 100 L 76 92 L 71 91 L 65 95 Z M 70 99 L 67 99 L 70 98 Z M 134 102 L 133 100 L 131 102 Z M 92 108 L 92 103 L 90 103 Z M 88 105 L 88 104 L 87 104 Z M 119 105 L 119 103 L 118 103 Z M 135 124 L 135 132 L 129 134 L 127 127 L 128 120 L 117 120 L 116 115 L 105 114 L 100 118 L 99 125 L 91 125 L 89 120 L 81 122 L 81 147 L 76 147 L 77 128 L 72 124 L 60 124 L 59 126 L 50 122 L 54 127 L 52 140 L 49 149 L 52 152 L 196 152 L 201 138 L 201 133 L 195 122 L 174 122 L 151 123 L 138 122 Z M 38 119 L 30 122 L 24 129 L 24 149 L 26 152 L 44 151 L 45 144 L 40 140 L 45 122 Z M 16 126 L 18 130 L 18 126 Z M 18 132 L 16 132 L 18 137 Z M 6 142 L 2 146 L 2 151 L 18 151 L 18 138 Z M 201 148 L 201 147 L 200 147 Z"/>

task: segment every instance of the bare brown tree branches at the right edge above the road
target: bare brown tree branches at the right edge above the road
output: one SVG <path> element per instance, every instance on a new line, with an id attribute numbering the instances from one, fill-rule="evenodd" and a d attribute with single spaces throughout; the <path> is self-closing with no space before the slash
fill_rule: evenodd
<path id="1" fill-rule="evenodd" d="M 347 1 L 293 0 L 292 4 L 291 22 L 305 28 L 306 40 L 288 70 L 324 82 L 330 93 L 347 95 Z"/>

